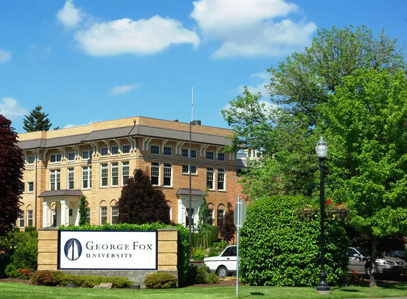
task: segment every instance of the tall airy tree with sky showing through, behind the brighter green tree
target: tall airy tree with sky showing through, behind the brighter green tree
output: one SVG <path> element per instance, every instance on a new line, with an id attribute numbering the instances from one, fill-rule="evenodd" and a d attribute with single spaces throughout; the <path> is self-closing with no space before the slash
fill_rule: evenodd
<path id="1" fill-rule="evenodd" d="M 268 70 L 271 102 L 247 88 L 230 101 L 221 111 L 236 131 L 228 150 L 244 145 L 263 152 L 261 163 L 249 162 L 250 174 L 242 178 L 244 192 L 251 198 L 312 194 L 318 170 L 313 144 L 326 131 L 318 107 L 335 94 L 344 76 L 358 70 L 407 72 L 402 50 L 385 31 L 374 36 L 363 26 L 321 29 L 310 47 Z"/>

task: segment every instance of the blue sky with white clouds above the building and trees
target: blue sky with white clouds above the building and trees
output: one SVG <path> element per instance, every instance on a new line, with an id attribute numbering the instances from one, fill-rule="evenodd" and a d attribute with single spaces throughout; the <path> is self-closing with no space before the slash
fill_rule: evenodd
<path id="1" fill-rule="evenodd" d="M 316 29 L 366 25 L 407 42 L 407 2 L 392 0 L 31 0 L 0 2 L 0 113 L 22 133 L 40 104 L 61 128 L 131 116 L 194 118 L 241 86 L 264 92 L 266 69 Z M 265 97 L 267 100 L 267 96 Z"/>

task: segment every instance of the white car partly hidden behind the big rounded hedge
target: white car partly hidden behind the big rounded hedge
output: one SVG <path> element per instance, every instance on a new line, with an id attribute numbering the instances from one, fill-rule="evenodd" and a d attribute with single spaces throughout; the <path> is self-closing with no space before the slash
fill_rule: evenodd
<path id="1" fill-rule="evenodd" d="M 203 259 L 205 265 L 211 272 L 219 277 L 226 277 L 236 273 L 237 246 L 232 245 L 225 248 L 219 256 L 206 257 Z"/>

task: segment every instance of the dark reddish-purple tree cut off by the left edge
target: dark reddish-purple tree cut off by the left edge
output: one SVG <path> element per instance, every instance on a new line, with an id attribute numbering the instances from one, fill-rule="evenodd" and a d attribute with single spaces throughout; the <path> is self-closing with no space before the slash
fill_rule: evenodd
<path id="1" fill-rule="evenodd" d="M 12 229 L 20 211 L 24 164 L 16 142 L 11 121 L 0 114 L 0 235 Z"/>

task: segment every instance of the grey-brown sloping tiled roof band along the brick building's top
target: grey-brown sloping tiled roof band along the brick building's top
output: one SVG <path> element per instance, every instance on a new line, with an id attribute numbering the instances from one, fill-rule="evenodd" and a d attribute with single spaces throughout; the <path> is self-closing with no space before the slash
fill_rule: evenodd
<path id="1" fill-rule="evenodd" d="M 146 137 L 149 136 L 155 138 L 166 138 L 172 140 L 188 141 L 189 131 L 136 125 L 113 129 L 97 130 L 86 134 L 78 134 L 65 137 L 18 141 L 17 145 L 21 149 L 52 148 L 57 146 L 74 145 L 83 142 L 103 139 L 123 138 L 127 136 L 146 136 Z M 204 133 L 192 133 L 191 140 L 192 142 L 215 145 L 232 144 L 231 139 L 228 137 Z"/>

